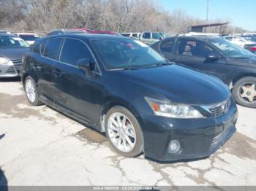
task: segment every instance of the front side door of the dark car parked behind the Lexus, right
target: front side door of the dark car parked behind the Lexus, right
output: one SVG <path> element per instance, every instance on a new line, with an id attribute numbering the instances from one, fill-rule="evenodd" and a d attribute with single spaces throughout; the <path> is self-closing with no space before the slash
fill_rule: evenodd
<path id="1" fill-rule="evenodd" d="M 176 42 L 176 62 L 178 65 L 206 72 L 225 82 L 230 66 L 220 55 L 219 59 L 216 60 L 206 58 L 211 53 L 219 55 L 213 47 L 199 40 L 178 39 Z"/>

